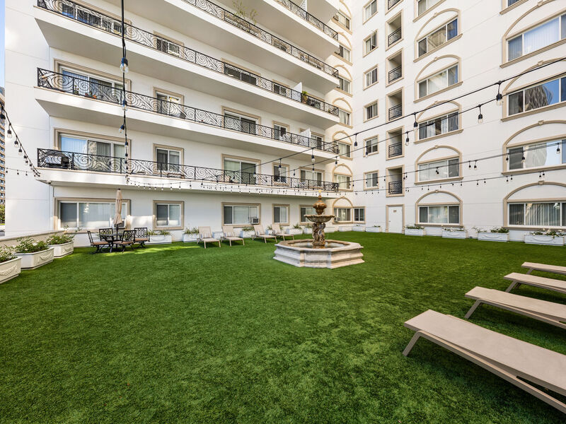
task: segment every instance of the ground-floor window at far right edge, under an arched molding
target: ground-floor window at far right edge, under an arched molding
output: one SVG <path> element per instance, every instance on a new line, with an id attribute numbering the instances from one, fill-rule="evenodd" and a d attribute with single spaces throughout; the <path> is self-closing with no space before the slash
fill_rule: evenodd
<path id="1" fill-rule="evenodd" d="M 564 227 L 566 226 L 565 208 L 566 203 L 560 201 L 509 204 L 509 225 Z"/>

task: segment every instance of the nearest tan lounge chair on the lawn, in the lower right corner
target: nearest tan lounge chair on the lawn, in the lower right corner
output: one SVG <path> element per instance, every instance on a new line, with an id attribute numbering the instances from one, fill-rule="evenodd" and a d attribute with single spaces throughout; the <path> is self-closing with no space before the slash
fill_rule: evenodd
<path id="1" fill-rule="evenodd" d="M 403 355 L 420 337 L 427 338 L 566 413 L 566 404 L 529 383 L 566 396 L 566 355 L 432 310 L 409 319 L 405 326 L 416 334 Z"/>

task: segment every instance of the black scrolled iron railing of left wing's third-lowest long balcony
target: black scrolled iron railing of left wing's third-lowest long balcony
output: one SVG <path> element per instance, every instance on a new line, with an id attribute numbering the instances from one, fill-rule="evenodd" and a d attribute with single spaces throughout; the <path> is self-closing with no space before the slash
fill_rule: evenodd
<path id="1" fill-rule="evenodd" d="M 103 30 L 106 33 L 113 35 L 122 35 L 122 22 L 110 16 L 104 15 L 93 9 L 86 8 L 85 6 L 74 3 L 70 0 L 37 0 L 37 6 L 45 8 L 48 11 L 59 13 L 73 20 L 77 20 L 86 25 Z M 141 30 L 140 28 L 125 23 L 125 37 L 127 40 L 136 42 L 139 45 L 156 49 L 159 52 L 168 54 L 178 59 L 190 62 L 211 71 L 223 73 L 224 75 L 231 76 L 245 83 L 251 84 L 262 88 L 262 90 L 270 91 L 277 95 L 282 95 L 290 100 L 304 103 L 305 105 L 315 107 L 323 112 L 328 112 L 338 116 L 338 108 L 334 105 L 329 105 L 322 100 L 313 98 L 310 95 L 305 95 L 299 91 L 282 86 L 267 78 L 263 78 L 255 73 L 246 71 L 245 69 L 238 68 L 227 64 L 224 61 L 214 59 L 207 54 L 202 54 L 196 50 L 190 49 L 183 45 L 167 40 L 166 38 L 159 37 L 154 33 Z"/>

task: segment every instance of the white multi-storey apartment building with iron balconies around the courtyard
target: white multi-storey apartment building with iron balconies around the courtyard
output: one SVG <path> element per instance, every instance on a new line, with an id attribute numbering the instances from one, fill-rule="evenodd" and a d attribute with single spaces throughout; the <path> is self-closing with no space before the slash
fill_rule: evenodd
<path id="1" fill-rule="evenodd" d="M 119 0 L 6 0 L 6 101 L 41 174 L 8 174 L 6 235 L 110 226 L 117 188 L 127 226 L 175 239 L 306 223 L 318 190 L 335 225 L 566 227 L 566 62 L 501 106 L 465 95 L 565 57 L 563 2 L 242 4 L 255 23 L 126 0 L 124 86 Z"/>

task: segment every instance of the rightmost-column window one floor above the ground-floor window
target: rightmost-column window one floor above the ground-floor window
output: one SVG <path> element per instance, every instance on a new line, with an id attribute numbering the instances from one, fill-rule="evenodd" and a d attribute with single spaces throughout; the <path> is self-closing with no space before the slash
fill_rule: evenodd
<path id="1" fill-rule="evenodd" d="M 507 149 L 509 170 L 566 164 L 566 140 L 545 141 Z"/>

